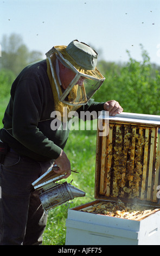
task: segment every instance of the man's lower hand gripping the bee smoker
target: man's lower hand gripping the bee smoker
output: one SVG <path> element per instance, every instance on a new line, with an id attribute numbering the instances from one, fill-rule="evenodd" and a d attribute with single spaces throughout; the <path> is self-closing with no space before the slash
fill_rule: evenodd
<path id="1" fill-rule="evenodd" d="M 64 176 L 64 179 L 68 178 L 69 175 L 71 175 L 71 163 L 65 153 L 65 151 L 61 151 L 60 156 L 54 161 L 54 163 L 59 167 L 58 170 L 54 170 L 55 173 L 62 175 L 66 174 Z"/>

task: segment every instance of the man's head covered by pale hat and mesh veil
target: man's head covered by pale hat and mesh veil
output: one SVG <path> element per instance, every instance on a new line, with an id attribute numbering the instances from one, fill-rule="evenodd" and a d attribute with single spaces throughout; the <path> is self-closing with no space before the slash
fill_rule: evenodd
<path id="1" fill-rule="evenodd" d="M 59 65 L 61 87 L 54 81 L 59 100 L 63 103 L 86 104 L 105 80 L 96 68 L 98 53 L 84 42 L 74 40 L 68 46 L 55 46 L 46 56 L 51 67 L 53 58 Z M 54 78 L 54 67 L 51 70 Z"/>

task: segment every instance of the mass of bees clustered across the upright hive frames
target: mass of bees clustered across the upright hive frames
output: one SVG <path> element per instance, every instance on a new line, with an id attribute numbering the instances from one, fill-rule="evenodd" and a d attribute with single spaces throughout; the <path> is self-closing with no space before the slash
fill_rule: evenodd
<path id="1" fill-rule="evenodd" d="M 106 175 L 104 175 L 106 180 L 102 194 L 110 197 L 139 197 L 142 192 L 142 182 L 144 182 L 143 187 L 147 186 L 145 182 L 148 179 L 149 161 L 154 165 L 154 160 L 149 160 L 152 129 L 147 130 L 145 127 L 130 124 L 110 124 L 110 131 L 112 138 L 106 146 Z M 156 147 L 156 144 L 153 147 Z M 147 160 L 145 160 L 145 150 L 148 154 Z M 110 159 L 109 164 L 108 159 Z M 146 180 L 143 178 L 144 164 Z M 110 187 L 108 194 L 106 194 L 105 182 Z"/>

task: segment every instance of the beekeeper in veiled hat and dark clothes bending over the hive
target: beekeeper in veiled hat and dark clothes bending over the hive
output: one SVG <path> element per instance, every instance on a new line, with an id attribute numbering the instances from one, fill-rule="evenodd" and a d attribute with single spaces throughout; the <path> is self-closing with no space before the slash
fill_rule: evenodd
<path id="1" fill-rule="evenodd" d="M 117 101 L 94 102 L 91 97 L 105 78 L 97 70 L 98 54 L 78 40 L 56 46 L 47 59 L 24 68 L 11 87 L 11 96 L 0 130 L 2 196 L 0 245 L 40 245 L 46 227 L 39 196 L 31 185 L 53 164 L 58 174 L 71 174 L 63 151 L 69 130 L 50 127 L 51 113 L 63 117 L 71 111 L 103 109 L 123 111 Z"/>

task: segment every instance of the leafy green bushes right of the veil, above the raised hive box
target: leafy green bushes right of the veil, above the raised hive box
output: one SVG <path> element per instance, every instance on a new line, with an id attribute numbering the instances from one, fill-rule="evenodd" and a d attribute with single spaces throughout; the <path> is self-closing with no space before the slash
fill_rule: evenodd
<path id="1" fill-rule="evenodd" d="M 160 75 L 153 69 L 148 53 L 142 47 L 142 63 L 132 59 L 125 66 L 105 73 L 106 80 L 94 94 L 95 101 L 117 100 L 124 112 L 157 114 L 160 113 Z"/>

